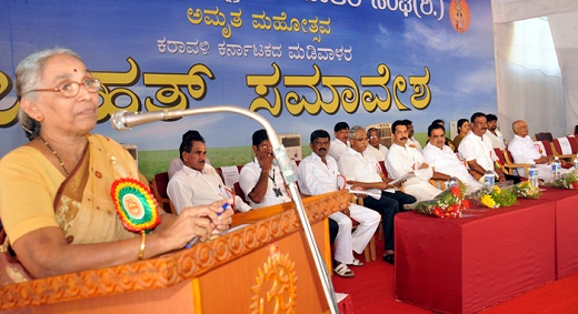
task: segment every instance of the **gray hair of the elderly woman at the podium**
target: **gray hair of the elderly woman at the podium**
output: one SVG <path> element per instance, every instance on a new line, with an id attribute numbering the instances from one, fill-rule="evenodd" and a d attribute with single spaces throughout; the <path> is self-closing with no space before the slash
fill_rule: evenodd
<path id="1" fill-rule="evenodd" d="M 29 91 L 40 88 L 40 80 L 42 79 L 47 60 L 58 54 L 67 54 L 82 60 L 74 51 L 66 48 L 46 49 L 28 55 L 16 68 L 16 94 L 19 100 L 22 98 L 36 99 L 37 94 Z M 22 109 L 18 111 L 18 120 L 20 120 L 22 129 L 24 129 L 30 141 L 38 136 L 40 123 L 30 118 Z"/>

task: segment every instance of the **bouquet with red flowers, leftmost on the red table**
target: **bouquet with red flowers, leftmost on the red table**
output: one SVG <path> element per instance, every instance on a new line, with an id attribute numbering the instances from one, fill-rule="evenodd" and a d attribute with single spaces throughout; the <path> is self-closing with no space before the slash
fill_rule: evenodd
<path id="1" fill-rule="evenodd" d="M 454 186 L 441 192 L 431 201 L 422 201 L 412 209 L 422 214 L 435 215 L 438 217 L 460 217 L 461 212 L 469 209 L 469 202 L 464 199 L 464 186 Z"/>

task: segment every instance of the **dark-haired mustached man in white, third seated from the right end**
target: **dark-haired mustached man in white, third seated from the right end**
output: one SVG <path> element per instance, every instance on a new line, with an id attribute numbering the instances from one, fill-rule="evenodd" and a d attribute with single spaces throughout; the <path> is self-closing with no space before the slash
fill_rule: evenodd
<path id="1" fill-rule="evenodd" d="M 515 183 L 520 179 L 512 175 L 506 175 L 499 165 L 499 158 L 496 155 L 491 146 L 490 139 L 486 135 L 488 122 L 486 114 L 476 112 L 470 118 L 470 132 L 461 140 L 458 151 L 468 162 L 470 174 L 476 180 L 484 182 L 484 175 L 487 170 L 494 171 L 498 181 L 505 182 L 512 180 Z"/>

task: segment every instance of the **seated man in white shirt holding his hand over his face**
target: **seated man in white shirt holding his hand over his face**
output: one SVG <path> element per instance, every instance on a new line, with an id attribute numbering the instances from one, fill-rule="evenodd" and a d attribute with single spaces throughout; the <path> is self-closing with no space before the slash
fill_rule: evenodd
<path id="1" fill-rule="evenodd" d="M 269 136 L 263 129 L 252 134 L 252 150 L 253 161 L 243 165 L 239 174 L 239 185 L 249 205 L 259 209 L 291 202 Z"/>

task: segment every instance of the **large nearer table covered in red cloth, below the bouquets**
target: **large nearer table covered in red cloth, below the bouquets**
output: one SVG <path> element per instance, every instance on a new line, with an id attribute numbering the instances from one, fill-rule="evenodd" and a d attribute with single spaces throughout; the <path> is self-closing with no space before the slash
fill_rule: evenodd
<path id="1" fill-rule="evenodd" d="M 555 280 L 554 201 L 465 212 L 399 213 L 396 297 L 432 311 L 472 313 Z"/>

